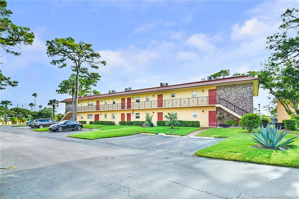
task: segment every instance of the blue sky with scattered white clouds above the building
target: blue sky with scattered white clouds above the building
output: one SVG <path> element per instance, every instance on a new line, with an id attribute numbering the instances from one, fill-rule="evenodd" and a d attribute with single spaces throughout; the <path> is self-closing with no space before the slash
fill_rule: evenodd
<path id="1" fill-rule="evenodd" d="M 1 100 L 13 106 L 34 102 L 46 106 L 49 99 L 68 95 L 55 92 L 71 75 L 58 69 L 46 55 L 47 40 L 73 37 L 91 43 L 106 66 L 95 89 L 123 91 L 200 81 L 230 69 L 259 70 L 269 57 L 266 37 L 277 32 L 280 15 L 298 1 L 7 1 L 16 25 L 35 33 L 33 45 L 22 46 L 20 57 L 1 49 L 4 75 L 18 80 L 15 88 L 1 91 Z M 15 97 L 18 95 L 21 98 Z M 269 103 L 260 89 L 254 107 Z M 38 109 L 38 108 L 37 108 Z M 58 113 L 64 112 L 61 103 Z"/>

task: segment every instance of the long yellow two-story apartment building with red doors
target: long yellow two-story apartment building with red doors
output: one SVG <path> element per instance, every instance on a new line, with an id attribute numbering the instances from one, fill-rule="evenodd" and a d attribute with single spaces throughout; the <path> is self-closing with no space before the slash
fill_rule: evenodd
<path id="1" fill-rule="evenodd" d="M 144 121 L 153 114 L 153 123 L 177 112 L 179 120 L 197 120 L 202 127 L 216 127 L 219 113 L 239 119 L 253 112 L 253 97 L 258 95 L 259 79 L 248 75 L 202 80 L 199 82 L 112 92 L 78 98 L 77 120 Z M 62 100 L 71 119 L 71 98 Z"/>

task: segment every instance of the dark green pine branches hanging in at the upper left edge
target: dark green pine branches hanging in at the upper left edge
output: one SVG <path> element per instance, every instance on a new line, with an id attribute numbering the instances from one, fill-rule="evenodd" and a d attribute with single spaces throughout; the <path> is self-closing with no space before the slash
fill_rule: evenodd
<path id="1" fill-rule="evenodd" d="M 19 56 L 21 53 L 13 50 L 14 47 L 21 48 L 22 45 L 32 44 L 34 39 L 33 32 L 30 28 L 17 26 L 10 20 L 12 11 L 8 10 L 7 3 L 0 0 L 0 47 L 9 54 Z M 10 77 L 5 77 L 0 70 L 0 90 L 6 86 L 16 86 L 17 81 L 10 80 Z"/>

